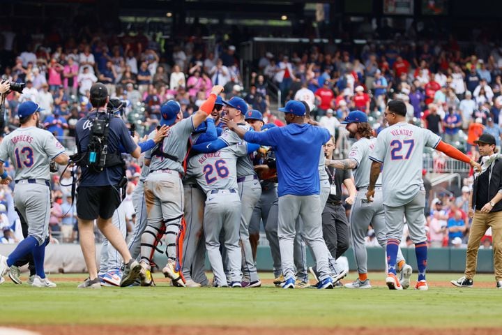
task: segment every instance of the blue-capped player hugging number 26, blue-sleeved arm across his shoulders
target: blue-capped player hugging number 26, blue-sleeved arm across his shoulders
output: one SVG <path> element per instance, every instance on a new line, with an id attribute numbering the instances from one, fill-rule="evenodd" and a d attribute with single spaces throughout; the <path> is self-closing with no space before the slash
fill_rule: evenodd
<path id="1" fill-rule="evenodd" d="M 236 121 L 246 131 L 250 130 L 251 126 L 244 122 L 245 114 L 248 112 L 248 104 L 237 96 L 234 96 L 229 101 L 223 101 L 223 103 L 225 104 L 224 111 L 226 118 Z M 207 144 L 206 147 L 194 146 L 194 149 L 203 153 L 209 153 L 240 142 L 242 140 L 236 133 L 226 129 L 218 140 Z M 256 148 L 258 147 L 256 146 Z M 251 156 L 238 158 L 237 183 L 241 202 L 246 204 L 241 209 L 241 229 L 239 230 L 243 253 L 243 281 L 246 283 L 246 286 L 259 287 L 261 286 L 261 281 L 258 277 L 256 265 L 254 265 L 249 238 L 249 224 L 254 206 L 261 195 L 261 186 L 257 174 L 254 172 Z"/>

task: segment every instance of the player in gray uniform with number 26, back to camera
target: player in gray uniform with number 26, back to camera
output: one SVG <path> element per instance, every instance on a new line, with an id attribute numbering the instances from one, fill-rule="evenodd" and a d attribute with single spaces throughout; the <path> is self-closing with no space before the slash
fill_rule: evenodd
<path id="1" fill-rule="evenodd" d="M 226 287 L 227 276 L 220 253 L 220 232 L 224 230 L 230 286 L 242 287 L 239 227 L 241 199 L 238 196 L 236 163 L 248 153 L 245 142 L 233 144 L 215 153 L 198 154 L 190 159 L 188 172 L 195 176 L 206 193 L 204 234 L 209 262 L 213 269 L 213 286 Z"/>

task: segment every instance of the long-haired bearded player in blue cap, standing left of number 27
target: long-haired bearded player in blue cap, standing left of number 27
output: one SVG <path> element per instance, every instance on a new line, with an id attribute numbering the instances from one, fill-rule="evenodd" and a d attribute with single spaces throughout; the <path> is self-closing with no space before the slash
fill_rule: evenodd
<path id="1" fill-rule="evenodd" d="M 340 170 L 353 170 L 353 176 L 358 193 L 356 200 L 352 204 L 350 215 L 350 230 L 354 259 L 358 267 L 358 278 L 353 283 L 345 284 L 346 288 L 371 288 L 370 280 L 367 278 L 367 251 L 365 247 L 365 236 L 368 225 L 377 235 L 377 240 L 382 248 L 386 248 L 386 223 L 383 213 L 381 177 L 375 186 L 374 202 L 367 202 L 366 191 L 370 183 L 371 161 L 368 159 L 370 152 L 377 141 L 373 137 L 373 130 L 367 123 L 365 112 L 358 110 L 350 112 L 345 117 L 342 124 L 346 124 L 349 137 L 355 138 L 356 142 L 351 147 L 349 158 L 342 161 L 326 161 L 326 165 Z M 401 252 L 397 250 L 397 265 L 401 271 L 400 283 L 404 289 L 409 287 L 409 278 L 413 269 L 407 265 Z"/>

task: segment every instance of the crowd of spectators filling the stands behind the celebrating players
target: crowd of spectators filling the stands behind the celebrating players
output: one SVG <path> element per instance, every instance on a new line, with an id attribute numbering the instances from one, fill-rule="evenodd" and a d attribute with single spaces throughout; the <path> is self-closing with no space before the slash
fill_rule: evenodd
<path id="1" fill-rule="evenodd" d="M 337 136 L 339 147 L 343 137 L 340 120 L 350 110 L 369 114 L 378 133 L 386 126 L 386 102 L 393 98 L 405 101 L 410 122 L 429 128 L 473 156 L 473 141 L 483 132 L 494 135 L 500 147 L 502 47 L 486 42 L 466 52 L 453 39 L 446 43 L 368 42 L 363 46 L 336 45 L 330 40 L 308 45 L 303 52 L 264 52 L 250 66 L 250 81 L 243 82 L 238 45 L 225 40 L 208 47 L 201 38 L 186 38 L 166 54 L 157 40 L 142 31 L 120 38 L 100 32 L 79 40 L 56 31 L 6 37 L 0 34 L 0 47 L 16 53 L 12 59 L 1 58 L 1 75 L 12 82 L 26 83 L 22 94 L 11 91 L 6 98 L 8 125 L 18 124 L 17 105 L 36 101 L 44 109 L 41 119 L 45 128 L 70 149 L 75 144 L 75 124 L 91 107 L 89 89 L 94 82 L 104 83 L 112 97 L 126 101 L 125 121 L 137 124 L 143 134 L 158 124 L 162 103 L 178 101 L 188 117 L 214 84 L 225 87 L 225 98 L 243 97 L 250 107 L 264 114 L 266 123 L 282 125 L 271 110 L 273 83 L 282 92 L 281 103 L 307 101 L 321 126 Z M 130 165 L 128 192 L 139 171 L 139 166 Z M 70 177 L 63 175 L 63 179 Z M 51 231 L 61 234 L 64 241 L 73 241 L 77 237 L 73 231 L 75 210 L 68 186 L 63 186 L 71 181 L 63 179 L 59 181 L 56 176 L 52 184 Z M 2 189 L 0 202 L 6 204 L 6 217 L 13 226 L 10 189 Z M 429 216 L 431 244 L 452 245 L 458 241 L 456 237 L 466 241 L 469 222 L 465 208 L 457 200 L 440 202 L 443 209 L 434 204 Z M 128 213 L 133 224 L 134 215 Z M 0 219 L 6 221 L 4 214 Z M 464 220 L 464 228 L 449 228 L 452 219 L 459 227 L 457 223 Z M 13 239 L 3 234 L 3 241 Z"/>

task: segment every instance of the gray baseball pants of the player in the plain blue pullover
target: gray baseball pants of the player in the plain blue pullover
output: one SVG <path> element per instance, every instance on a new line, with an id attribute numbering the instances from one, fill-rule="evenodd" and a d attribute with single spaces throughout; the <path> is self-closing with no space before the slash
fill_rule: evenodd
<path id="1" fill-rule="evenodd" d="M 319 195 L 283 195 L 279 197 L 279 223 L 277 234 L 281 253 L 284 278 L 294 278 L 294 239 L 296 218 L 300 217 L 302 237 L 312 248 L 317 261 L 319 280 L 330 276 L 328 269 L 328 248 L 322 238 L 321 202 Z"/>

